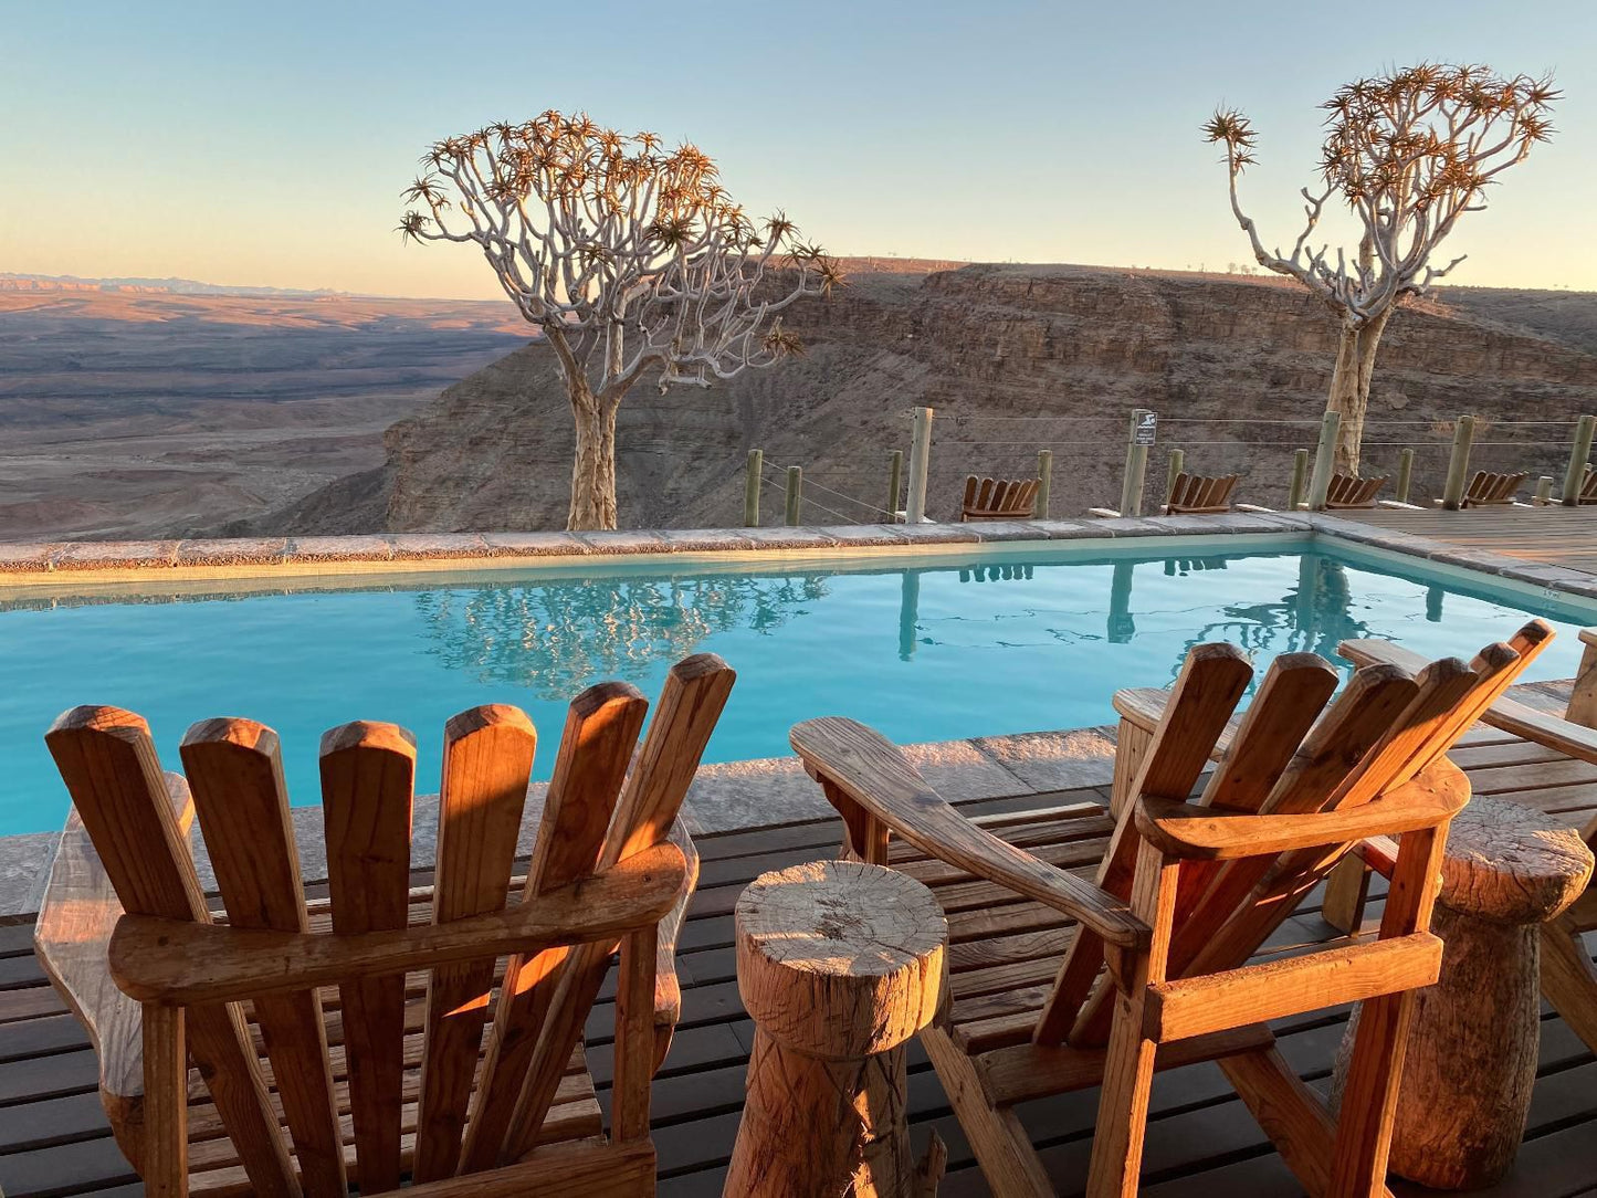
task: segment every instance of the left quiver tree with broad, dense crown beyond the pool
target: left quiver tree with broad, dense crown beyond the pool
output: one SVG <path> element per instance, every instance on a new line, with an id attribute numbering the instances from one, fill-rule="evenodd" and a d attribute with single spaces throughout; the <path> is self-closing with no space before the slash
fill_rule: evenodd
<path id="1" fill-rule="evenodd" d="M 567 527 L 616 527 L 615 415 L 644 377 L 709 387 L 802 345 L 778 313 L 837 265 L 781 214 L 755 225 L 693 145 L 671 153 L 545 112 L 450 137 L 406 190 L 401 230 L 474 243 L 549 342 L 577 423 Z"/>

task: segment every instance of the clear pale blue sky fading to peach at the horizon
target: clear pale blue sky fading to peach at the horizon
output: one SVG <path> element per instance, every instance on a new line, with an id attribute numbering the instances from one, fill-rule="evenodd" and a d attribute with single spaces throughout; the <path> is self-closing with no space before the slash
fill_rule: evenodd
<path id="1" fill-rule="evenodd" d="M 401 244 L 399 190 L 549 107 L 698 142 L 838 254 L 1223 270 L 1214 105 L 1254 117 L 1244 203 L 1289 246 L 1316 104 L 1428 58 L 1567 93 L 1453 281 L 1597 289 L 1594 0 L 0 0 L 0 270 L 497 296 L 470 248 Z"/>

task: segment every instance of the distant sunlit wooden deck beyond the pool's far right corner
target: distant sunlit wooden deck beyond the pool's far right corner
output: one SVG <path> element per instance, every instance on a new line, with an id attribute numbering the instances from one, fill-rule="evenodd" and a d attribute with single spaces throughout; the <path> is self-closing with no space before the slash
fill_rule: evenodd
<path id="1" fill-rule="evenodd" d="M 1330 516 L 1409 532 L 1461 549 L 1501 553 L 1544 565 L 1563 565 L 1597 575 L 1597 506 L 1563 508 L 1361 508 Z"/>

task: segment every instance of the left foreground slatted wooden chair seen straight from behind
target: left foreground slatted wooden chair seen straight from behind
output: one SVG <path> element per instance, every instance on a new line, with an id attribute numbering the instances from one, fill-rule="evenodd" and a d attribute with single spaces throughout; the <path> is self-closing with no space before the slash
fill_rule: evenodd
<path id="1" fill-rule="evenodd" d="M 434 880 L 420 888 L 414 740 L 391 724 L 334 728 L 329 898 L 310 901 L 270 728 L 193 725 L 184 776 L 163 775 L 133 712 L 62 714 L 46 741 L 73 815 L 37 949 L 89 1029 L 145 1192 L 653 1193 L 648 1089 L 696 877 L 677 810 L 731 680 L 714 655 L 680 661 L 642 748 L 634 687 L 583 692 L 522 877 L 537 735 L 521 711 L 449 720 Z M 201 893 L 192 815 L 225 914 Z M 605 1136 L 583 1025 L 618 944 Z"/>

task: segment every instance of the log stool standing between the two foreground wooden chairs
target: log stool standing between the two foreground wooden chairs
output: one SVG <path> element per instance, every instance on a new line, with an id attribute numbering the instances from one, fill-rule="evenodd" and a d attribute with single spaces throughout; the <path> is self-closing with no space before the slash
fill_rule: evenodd
<path id="1" fill-rule="evenodd" d="M 921 883 L 814 861 L 738 899 L 738 994 L 754 1018 L 725 1193 L 909 1198 L 904 1041 L 947 990 L 949 925 Z M 934 1184 L 934 1182 L 933 1182 Z"/>

